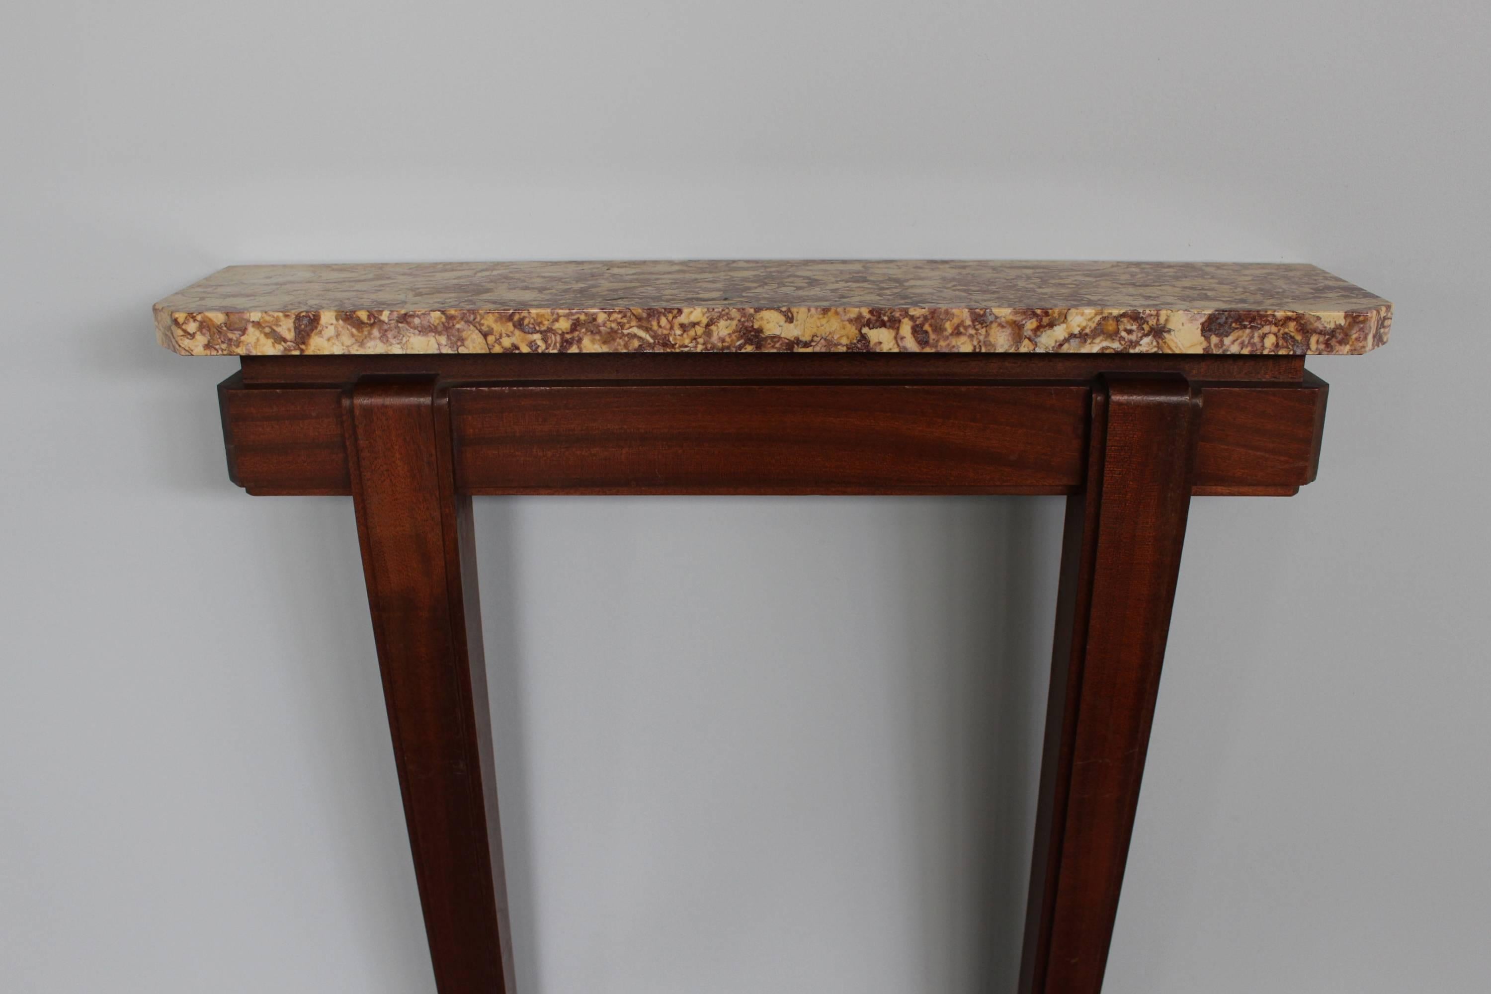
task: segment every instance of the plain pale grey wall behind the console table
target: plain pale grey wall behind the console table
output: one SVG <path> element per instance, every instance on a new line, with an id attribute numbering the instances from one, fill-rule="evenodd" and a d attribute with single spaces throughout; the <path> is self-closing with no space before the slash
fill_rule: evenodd
<path id="1" fill-rule="evenodd" d="M 352 508 L 249 499 L 230 262 L 1312 261 L 1320 481 L 1194 507 L 1109 987 L 1491 976 L 1473 0 L 13 4 L 0 987 L 431 991 Z M 526 994 L 1009 991 L 1059 501 L 480 501 Z"/>

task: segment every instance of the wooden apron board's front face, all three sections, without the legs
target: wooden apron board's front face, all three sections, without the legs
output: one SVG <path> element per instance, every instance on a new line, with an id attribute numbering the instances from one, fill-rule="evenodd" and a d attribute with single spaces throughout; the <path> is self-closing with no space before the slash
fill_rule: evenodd
<path id="1" fill-rule="evenodd" d="M 346 387 L 221 387 L 234 481 L 349 493 Z M 1293 493 L 1315 475 L 1325 384 L 1203 386 L 1196 492 Z M 1090 380 L 953 386 L 528 386 L 450 390 L 467 493 L 1069 493 Z"/>

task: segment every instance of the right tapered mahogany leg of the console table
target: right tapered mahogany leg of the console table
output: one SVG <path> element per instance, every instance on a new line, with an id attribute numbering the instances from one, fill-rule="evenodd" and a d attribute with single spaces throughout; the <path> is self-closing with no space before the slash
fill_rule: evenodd
<path id="1" fill-rule="evenodd" d="M 1097 994 L 1190 508 L 1200 401 L 1181 379 L 1093 390 L 1068 499 L 1021 994 Z"/>

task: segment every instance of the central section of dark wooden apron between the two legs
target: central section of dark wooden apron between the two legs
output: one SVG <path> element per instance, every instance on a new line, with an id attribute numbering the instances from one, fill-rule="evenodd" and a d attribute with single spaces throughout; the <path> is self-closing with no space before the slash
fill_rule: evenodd
<path id="1" fill-rule="evenodd" d="M 1075 386 L 476 387 L 473 493 L 1020 493 L 1078 486 Z"/>

